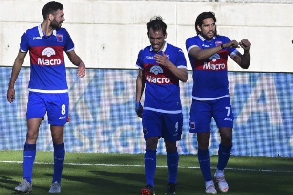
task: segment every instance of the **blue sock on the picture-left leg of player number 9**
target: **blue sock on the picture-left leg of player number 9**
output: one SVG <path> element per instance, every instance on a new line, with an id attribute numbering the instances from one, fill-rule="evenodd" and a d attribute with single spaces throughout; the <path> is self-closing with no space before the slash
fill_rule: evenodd
<path id="1" fill-rule="evenodd" d="M 145 172 L 146 172 L 146 184 L 155 187 L 155 172 L 157 166 L 157 158 L 155 150 L 147 150 L 145 153 Z"/>

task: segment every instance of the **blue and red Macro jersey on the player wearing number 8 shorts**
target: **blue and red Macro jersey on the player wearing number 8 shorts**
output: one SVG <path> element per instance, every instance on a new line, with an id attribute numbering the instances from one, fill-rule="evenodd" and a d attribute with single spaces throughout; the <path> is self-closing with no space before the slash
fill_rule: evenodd
<path id="1" fill-rule="evenodd" d="M 64 51 L 74 49 L 64 28 L 53 30 L 47 37 L 41 25 L 26 30 L 21 37 L 21 52 L 30 54 L 29 91 L 58 93 L 68 90 Z"/>

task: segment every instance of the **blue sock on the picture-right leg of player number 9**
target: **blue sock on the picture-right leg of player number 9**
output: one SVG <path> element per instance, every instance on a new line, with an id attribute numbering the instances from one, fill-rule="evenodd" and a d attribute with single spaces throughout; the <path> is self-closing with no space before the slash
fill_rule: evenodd
<path id="1" fill-rule="evenodd" d="M 169 171 L 168 183 L 177 183 L 179 154 L 177 150 L 172 153 L 167 153 L 167 164 Z"/>

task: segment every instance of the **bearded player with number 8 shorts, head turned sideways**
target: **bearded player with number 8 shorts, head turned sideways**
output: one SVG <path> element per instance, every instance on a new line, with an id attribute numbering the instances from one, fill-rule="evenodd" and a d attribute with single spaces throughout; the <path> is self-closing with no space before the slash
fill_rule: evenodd
<path id="1" fill-rule="evenodd" d="M 15 99 L 14 84 L 26 53 L 30 54 L 30 80 L 26 111 L 27 134 L 23 151 L 23 181 L 15 188 L 18 193 L 32 191 L 32 171 L 36 156 L 36 141 L 43 117 L 47 112 L 54 146 L 54 173 L 49 193 L 61 192 L 61 175 L 65 156 L 63 131 L 68 118 L 68 86 L 63 52 L 78 66 L 78 77 L 85 76 L 84 62 L 74 51 L 68 32 L 61 28 L 63 5 L 48 2 L 42 9 L 43 22 L 26 30 L 21 37 L 20 50 L 14 61 L 7 99 Z"/>

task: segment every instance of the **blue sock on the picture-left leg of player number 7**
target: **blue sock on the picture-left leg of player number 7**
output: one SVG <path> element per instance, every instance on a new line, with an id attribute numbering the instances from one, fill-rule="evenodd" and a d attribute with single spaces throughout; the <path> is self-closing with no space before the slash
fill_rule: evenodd
<path id="1" fill-rule="evenodd" d="M 210 171 L 210 161 L 209 161 L 209 149 L 207 150 L 197 150 L 197 158 L 200 165 L 200 170 L 204 176 L 205 181 L 212 180 Z"/>

